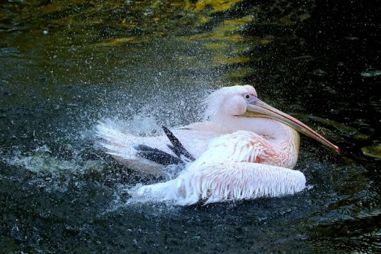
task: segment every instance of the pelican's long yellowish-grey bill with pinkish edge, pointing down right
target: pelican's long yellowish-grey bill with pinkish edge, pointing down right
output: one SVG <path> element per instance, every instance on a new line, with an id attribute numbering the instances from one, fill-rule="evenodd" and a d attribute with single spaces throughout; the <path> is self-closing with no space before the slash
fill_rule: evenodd
<path id="1" fill-rule="evenodd" d="M 306 126 L 294 117 L 291 117 L 290 115 L 281 112 L 280 110 L 277 110 L 276 108 L 270 105 L 267 105 L 258 98 L 255 98 L 250 103 L 248 103 L 246 110 L 247 111 L 243 114 L 243 116 L 245 117 L 268 117 L 277 121 L 281 121 L 283 124 L 287 124 L 288 126 L 299 131 L 300 133 L 303 133 L 304 135 L 307 135 L 313 138 L 314 140 L 318 140 L 318 142 L 334 149 L 336 153 L 340 153 L 339 147 L 326 140 L 325 137 L 317 133 L 315 130 L 309 128 L 309 126 Z"/>

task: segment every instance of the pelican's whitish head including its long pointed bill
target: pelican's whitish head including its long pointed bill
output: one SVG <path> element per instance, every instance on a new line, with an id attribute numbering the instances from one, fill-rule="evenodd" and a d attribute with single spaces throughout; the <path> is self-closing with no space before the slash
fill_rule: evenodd
<path id="1" fill-rule="evenodd" d="M 337 153 L 340 152 L 339 147 L 326 140 L 325 137 L 316 133 L 306 124 L 260 100 L 256 89 L 251 85 L 224 87 L 214 91 L 206 98 L 205 104 L 207 105 L 205 117 L 213 118 L 229 115 L 274 119 L 334 149 Z"/>

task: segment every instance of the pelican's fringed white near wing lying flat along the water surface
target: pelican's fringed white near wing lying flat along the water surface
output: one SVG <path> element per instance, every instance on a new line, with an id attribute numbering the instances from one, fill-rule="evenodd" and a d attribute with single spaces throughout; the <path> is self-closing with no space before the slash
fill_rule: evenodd
<path id="1" fill-rule="evenodd" d="M 180 205 L 228 200 L 277 197 L 302 191 L 302 172 L 258 163 L 216 163 L 198 165 L 177 179 L 134 188 L 134 200 L 173 201 Z M 191 166 L 192 167 L 192 166 Z"/>

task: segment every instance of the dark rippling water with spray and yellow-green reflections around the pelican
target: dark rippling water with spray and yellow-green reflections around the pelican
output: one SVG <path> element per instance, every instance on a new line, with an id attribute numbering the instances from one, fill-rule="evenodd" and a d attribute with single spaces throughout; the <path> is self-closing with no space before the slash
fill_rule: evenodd
<path id="1" fill-rule="evenodd" d="M 1 253 L 377 253 L 381 8 L 362 1 L 1 1 Z M 254 84 L 313 126 L 288 197 L 127 205 L 153 182 L 96 147 L 98 121 L 199 119 L 206 89 Z"/>

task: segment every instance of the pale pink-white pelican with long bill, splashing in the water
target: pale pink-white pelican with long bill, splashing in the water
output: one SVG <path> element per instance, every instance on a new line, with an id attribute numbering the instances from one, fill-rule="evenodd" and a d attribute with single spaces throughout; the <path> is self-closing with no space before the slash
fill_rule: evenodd
<path id="1" fill-rule="evenodd" d="M 292 170 L 300 149 L 298 132 L 340 151 L 309 126 L 261 101 L 251 85 L 213 91 L 205 104 L 204 121 L 171 129 L 195 160 L 176 179 L 132 188 L 133 198 L 190 205 L 293 194 L 306 186 L 304 174 Z M 139 145 L 178 156 L 164 135 L 134 137 L 105 124 L 98 126 L 97 135 L 118 161 L 148 174 L 168 163 L 142 156 Z"/>

